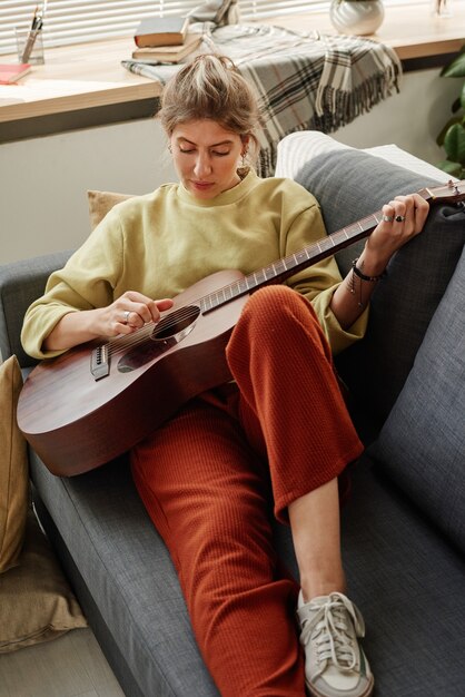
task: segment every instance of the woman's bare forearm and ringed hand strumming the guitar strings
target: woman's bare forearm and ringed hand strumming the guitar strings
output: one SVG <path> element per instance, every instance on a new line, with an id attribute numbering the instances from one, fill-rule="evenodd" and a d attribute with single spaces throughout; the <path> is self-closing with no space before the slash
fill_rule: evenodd
<path id="1" fill-rule="evenodd" d="M 98 337 L 132 334 L 160 313 L 172 307 L 172 300 L 154 301 L 137 291 L 127 291 L 107 307 L 69 312 L 43 340 L 44 351 L 66 351 Z"/>

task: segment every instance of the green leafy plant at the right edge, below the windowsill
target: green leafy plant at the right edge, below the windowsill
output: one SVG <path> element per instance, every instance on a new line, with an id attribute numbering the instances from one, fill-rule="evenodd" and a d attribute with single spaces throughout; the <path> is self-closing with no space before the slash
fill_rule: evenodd
<path id="1" fill-rule="evenodd" d="M 448 78 L 465 78 L 465 47 L 447 66 L 441 71 L 442 76 Z M 462 92 L 452 105 L 454 116 L 444 126 L 436 143 L 444 147 L 447 158 L 438 163 L 438 167 L 454 177 L 463 179 L 465 177 L 465 81 L 462 85 Z"/>

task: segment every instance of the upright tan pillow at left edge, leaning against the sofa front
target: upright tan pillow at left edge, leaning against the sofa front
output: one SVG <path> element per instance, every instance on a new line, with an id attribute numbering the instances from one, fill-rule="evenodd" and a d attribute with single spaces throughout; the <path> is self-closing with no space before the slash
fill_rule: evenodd
<path id="1" fill-rule="evenodd" d="M 0 572 L 18 562 L 28 512 L 28 457 L 17 425 L 21 387 L 21 370 L 11 356 L 0 365 Z"/>

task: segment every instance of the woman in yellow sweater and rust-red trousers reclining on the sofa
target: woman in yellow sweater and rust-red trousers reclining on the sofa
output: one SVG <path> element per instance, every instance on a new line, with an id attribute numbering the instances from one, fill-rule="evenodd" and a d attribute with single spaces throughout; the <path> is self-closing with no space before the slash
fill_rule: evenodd
<path id="1" fill-rule="evenodd" d="M 310 194 L 245 166 L 259 114 L 228 59 L 182 67 L 159 117 L 180 183 L 116 206 L 52 274 L 26 316 L 31 355 L 131 334 L 205 276 L 249 274 L 325 235 Z M 226 346 L 231 381 L 181 406 L 130 453 L 225 697 L 373 690 L 339 544 L 338 478 L 363 446 L 332 354 L 363 336 L 369 296 L 393 253 L 422 229 L 427 204 L 403 196 L 383 214 L 347 279 L 332 258 L 253 293 Z M 300 588 L 275 553 L 271 514 L 290 526 Z"/>

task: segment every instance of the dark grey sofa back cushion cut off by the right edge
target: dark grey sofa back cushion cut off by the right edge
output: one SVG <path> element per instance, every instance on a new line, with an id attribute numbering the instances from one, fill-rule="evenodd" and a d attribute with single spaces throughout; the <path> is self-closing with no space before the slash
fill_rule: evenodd
<path id="1" fill-rule="evenodd" d="M 465 251 L 370 452 L 465 551 Z"/>

